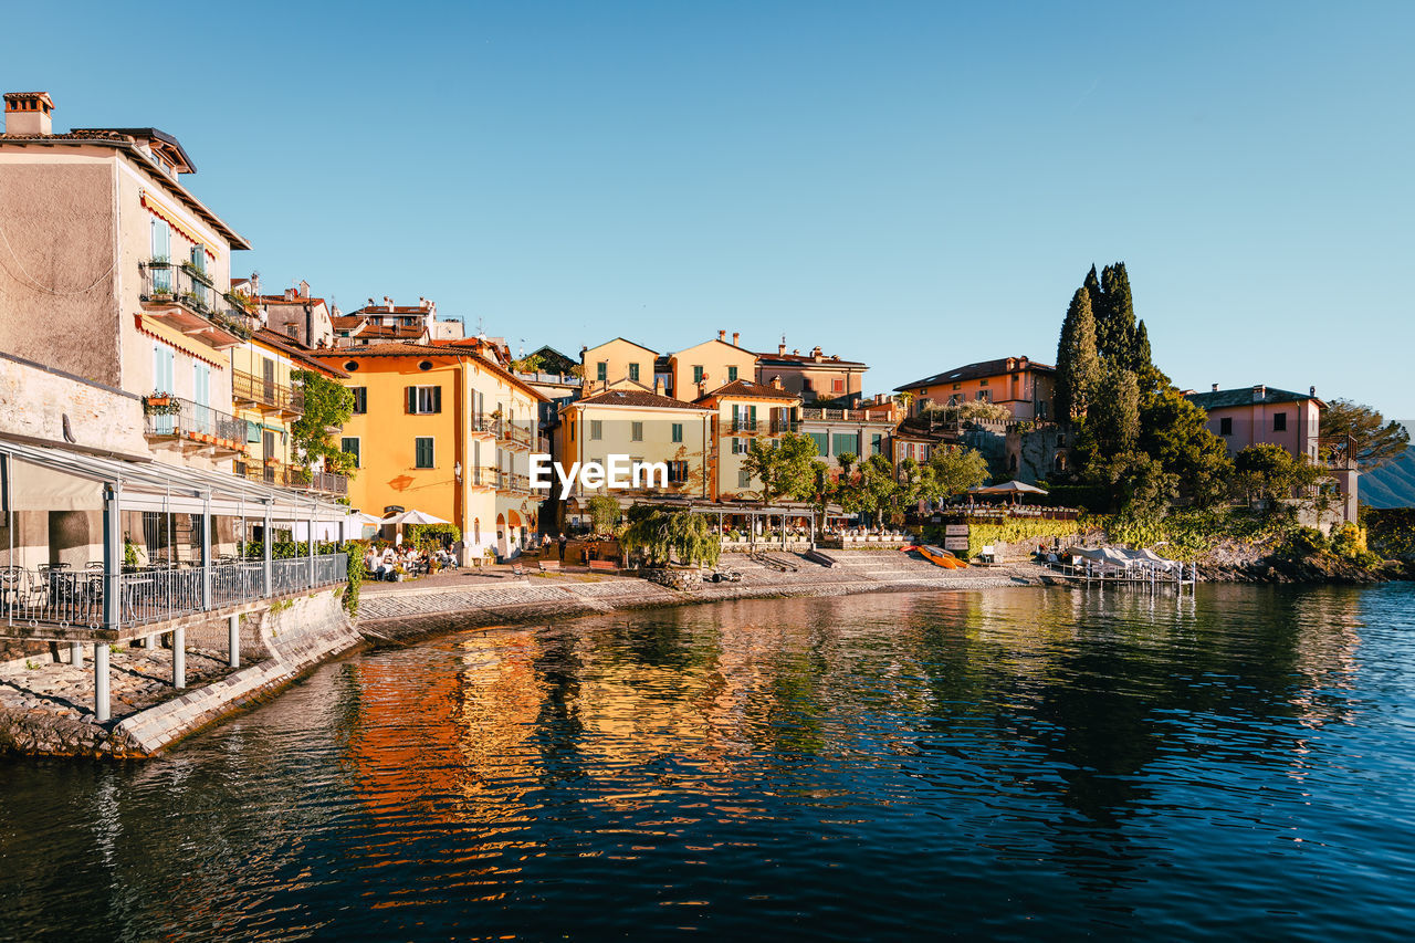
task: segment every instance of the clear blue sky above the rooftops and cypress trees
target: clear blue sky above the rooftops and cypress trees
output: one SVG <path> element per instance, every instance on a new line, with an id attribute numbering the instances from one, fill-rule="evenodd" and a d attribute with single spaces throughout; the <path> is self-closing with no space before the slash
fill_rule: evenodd
<path id="1" fill-rule="evenodd" d="M 512 348 L 716 328 L 869 392 L 1051 361 L 1124 259 L 1180 385 L 1415 418 L 1415 4 L 95 4 L 7 23 L 57 125 L 154 125 L 345 309 Z M 20 31 L 37 31 L 25 41 Z"/>

